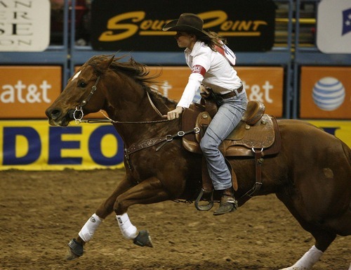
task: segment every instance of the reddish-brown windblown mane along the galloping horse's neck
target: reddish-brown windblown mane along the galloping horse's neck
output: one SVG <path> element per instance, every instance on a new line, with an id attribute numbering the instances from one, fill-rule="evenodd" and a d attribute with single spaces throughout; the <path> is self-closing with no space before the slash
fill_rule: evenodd
<path id="1" fill-rule="evenodd" d="M 100 75 L 102 74 L 102 71 L 99 68 L 99 63 L 110 58 L 112 58 L 112 56 L 93 56 L 88 61 L 88 64 L 93 67 L 93 69 L 95 70 L 95 72 L 98 73 L 98 75 Z M 149 92 L 149 94 L 153 97 L 153 101 L 161 101 L 161 103 L 166 103 L 166 105 L 170 106 L 176 105 L 176 101 L 172 101 L 166 98 L 165 96 L 161 95 L 159 91 L 152 89 L 152 86 L 160 84 L 160 82 L 157 81 L 157 78 L 161 75 L 161 71 L 157 72 L 154 75 L 150 75 L 150 70 L 147 69 L 147 65 L 138 63 L 132 57 L 125 62 L 121 62 L 120 60 L 123 58 L 126 58 L 126 56 L 115 57 L 110 65 L 110 70 L 113 70 L 116 73 L 123 72 L 125 75 L 131 77 L 136 82 L 141 84 L 143 86 L 143 89 Z"/>

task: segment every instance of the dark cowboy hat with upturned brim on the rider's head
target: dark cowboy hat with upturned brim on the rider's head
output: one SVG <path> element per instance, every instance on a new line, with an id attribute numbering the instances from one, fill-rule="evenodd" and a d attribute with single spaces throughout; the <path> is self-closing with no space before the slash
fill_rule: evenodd
<path id="1" fill-rule="evenodd" d="M 209 37 L 208 32 L 204 31 L 204 20 L 193 13 L 183 13 L 178 20 L 171 20 L 171 22 L 164 25 L 164 31 L 178 31 L 196 34 L 198 37 Z"/>

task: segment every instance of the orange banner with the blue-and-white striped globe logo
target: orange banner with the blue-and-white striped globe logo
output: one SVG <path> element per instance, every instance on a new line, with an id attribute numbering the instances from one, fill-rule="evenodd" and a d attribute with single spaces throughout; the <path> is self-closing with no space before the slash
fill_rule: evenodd
<path id="1" fill-rule="evenodd" d="M 302 67 L 300 117 L 351 119 L 350 74 L 350 67 Z"/>

